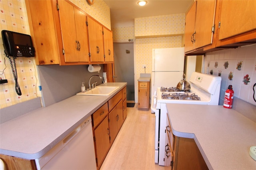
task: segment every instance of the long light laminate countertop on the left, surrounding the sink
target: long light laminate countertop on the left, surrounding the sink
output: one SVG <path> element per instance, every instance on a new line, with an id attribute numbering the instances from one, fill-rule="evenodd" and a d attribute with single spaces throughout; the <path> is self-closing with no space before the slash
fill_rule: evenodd
<path id="1" fill-rule="evenodd" d="M 2 123 L 0 153 L 32 160 L 40 158 L 122 90 L 126 84 L 100 84 L 99 86 L 119 86 L 119 88 L 109 96 L 74 95 Z"/>

